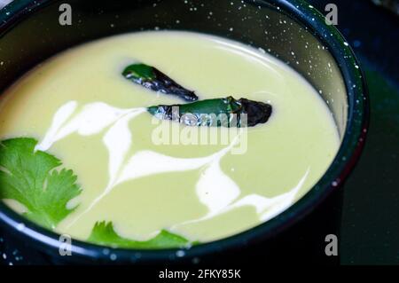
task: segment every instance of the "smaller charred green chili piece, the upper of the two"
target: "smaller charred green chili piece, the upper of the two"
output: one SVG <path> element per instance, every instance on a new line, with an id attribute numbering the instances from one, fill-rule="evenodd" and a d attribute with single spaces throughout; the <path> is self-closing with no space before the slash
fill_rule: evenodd
<path id="1" fill-rule="evenodd" d="M 156 67 L 151 67 L 142 63 L 131 64 L 122 72 L 122 75 L 133 83 L 137 83 L 146 89 L 159 91 L 161 93 L 176 95 L 185 101 L 198 100 L 197 95 L 192 90 L 186 90 L 180 84 L 163 74 Z"/>

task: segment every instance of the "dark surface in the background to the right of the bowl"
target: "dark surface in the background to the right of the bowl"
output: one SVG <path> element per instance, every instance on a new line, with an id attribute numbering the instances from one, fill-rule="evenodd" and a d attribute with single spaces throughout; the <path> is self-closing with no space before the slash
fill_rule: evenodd
<path id="1" fill-rule="evenodd" d="M 325 11 L 326 4 L 337 4 L 337 28 L 348 39 L 361 62 L 372 103 L 364 153 L 341 192 L 339 262 L 397 264 L 399 60 L 396 52 L 399 16 L 369 0 L 308 1 L 321 12 Z"/>

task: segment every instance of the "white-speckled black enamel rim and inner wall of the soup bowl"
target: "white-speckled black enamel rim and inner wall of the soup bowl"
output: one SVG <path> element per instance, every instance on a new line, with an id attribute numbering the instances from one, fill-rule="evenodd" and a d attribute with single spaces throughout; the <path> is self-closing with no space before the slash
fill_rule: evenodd
<path id="1" fill-rule="evenodd" d="M 355 166 L 364 145 L 369 113 L 364 78 L 342 35 L 304 1 L 70 0 L 72 26 L 59 24 L 59 6 L 63 2 L 16 0 L 0 12 L 0 90 L 44 59 L 79 43 L 141 30 L 198 31 L 262 48 L 296 69 L 319 90 L 330 107 L 341 145 L 325 175 L 291 208 L 246 232 L 183 253 L 176 249 L 110 249 L 73 240 L 72 256 L 61 256 L 58 234 L 27 221 L 0 203 L 0 245 L 6 247 L 8 241 L 16 254 L 24 248 L 35 253 L 27 262 L 198 263 L 206 256 L 223 254 L 231 248 L 250 248 L 259 241 L 267 247 L 268 241 L 281 237 L 286 227 L 312 211 L 315 214 L 317 206 L 338 190 Z M 12 249 L 8 252 L 13 253 Z M 9 255 L 7 261 L 16 263 L 19 259 L 18 255 Z"/>

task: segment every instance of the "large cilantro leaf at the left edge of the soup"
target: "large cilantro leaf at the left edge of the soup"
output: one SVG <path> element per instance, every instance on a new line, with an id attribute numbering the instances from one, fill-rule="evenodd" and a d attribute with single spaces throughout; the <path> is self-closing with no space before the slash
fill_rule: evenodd
<path id="1" fill-rule="evenodd" d="M 0 199 L 19 201 L 25 216 L 54 228 L 74 208 L 66 203 L 82 190 L 72 170 L 57 169 L 55 156 L 35 151 L 34 138 L 11 138 L 0 142 Z"/>

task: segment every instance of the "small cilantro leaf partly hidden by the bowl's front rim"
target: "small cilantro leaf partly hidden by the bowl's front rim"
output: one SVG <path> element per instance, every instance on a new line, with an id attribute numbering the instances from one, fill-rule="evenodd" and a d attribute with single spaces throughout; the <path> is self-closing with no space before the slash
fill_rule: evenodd
<path id="1" fill-rule="evenodd" d="M 113 248 L 187 248 L 190 245 L 189 240 L 166 230 L 161 230 L 153 239 L 145 241 L 122 238 L 113 230 L 113 223 L 106 221 L 94 225 L 88 240 Z"/>

